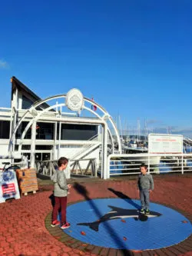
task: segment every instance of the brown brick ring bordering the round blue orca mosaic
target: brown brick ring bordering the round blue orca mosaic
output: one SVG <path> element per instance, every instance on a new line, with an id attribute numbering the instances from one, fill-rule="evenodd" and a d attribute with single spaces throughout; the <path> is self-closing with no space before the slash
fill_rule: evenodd
<path id="1" fill-rule="evenodd" d="M 108 197 L 114 198 L 114 197 Z M 104 199 L 104 198 L 92 198 L 92 199 Z M 76 204 L 86 200 L 79 200 L 73 201 L 68 203 L 68 205 Z M 151 201 L 151 203 L 160 204 L 156 201 Z M 180 209 L 174 208 L 169 204 L 161 204 L 166 206 L 167 208 L 171 208 L 175 211 L 178 211 L 180 214 L 183 214 L 186 217 L 190 224 L 192 223 L 192 214 L 188 214 Z M 86 244 L 83 241 L 79 241 L 75 238 L 72 238 L 70 235 L 66 234 L 64 231 L 61 230 L 59 227 L 52 228 L 51 227 L 51 212 L 45 218 L 45 227 L 47 228 L 48 232 L 58 241 L 61 241 L 66 246 L 78 249 L 83 251 L 84 253 L 90 252 L 91 254 L 98 254 L 100 256 L 177 256 L 179 254 L 187 253 L 188 251 L 192 251 L 192 234 L 184 241 L 181 241 L 179 244 L 171 245 L 167 248 L 161 249 L 154 249 L 154 250 L 144 250 L 144 251 L 128 251 L 128 250 L 121 250 L 121 249 L 114 249 L 114 248 L 102 248 L 96 245 Z"/>

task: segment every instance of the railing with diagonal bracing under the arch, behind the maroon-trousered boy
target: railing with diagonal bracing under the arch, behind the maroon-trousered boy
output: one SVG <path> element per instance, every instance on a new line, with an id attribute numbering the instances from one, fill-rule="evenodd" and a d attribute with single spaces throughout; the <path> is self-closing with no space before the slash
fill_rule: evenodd
<path id="1" fill-rule="evenodd" d="M 35 168 L 38 174 L 51 177 L 58 168 L 58 160 L 35 161 Z M 67 178 L 73 174 L 97 177 L 96 158 L 70 159 L 65 172 Z"/>

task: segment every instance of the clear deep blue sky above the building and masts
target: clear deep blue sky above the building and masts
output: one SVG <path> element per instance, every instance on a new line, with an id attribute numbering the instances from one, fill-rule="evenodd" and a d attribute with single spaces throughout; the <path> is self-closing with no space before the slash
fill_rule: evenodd
<path id="1" fill-rule="evenodd" d="M 79 88 L 122 125 L 192 135 L 190 0 L 3 1 L 1 107 L 15 75 L 41 98 Z"/>

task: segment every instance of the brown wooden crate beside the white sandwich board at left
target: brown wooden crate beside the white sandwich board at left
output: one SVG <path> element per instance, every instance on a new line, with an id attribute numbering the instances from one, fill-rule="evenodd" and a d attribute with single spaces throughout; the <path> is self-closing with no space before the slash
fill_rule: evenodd
<path id="1" fill-rule="evenodd" d="M 35 194 L 38 191 L 38 179 L 35 169 L 18 169 L 16 172 L 21 193 L 26 195 L 28 192 L 33 192 Z"/>

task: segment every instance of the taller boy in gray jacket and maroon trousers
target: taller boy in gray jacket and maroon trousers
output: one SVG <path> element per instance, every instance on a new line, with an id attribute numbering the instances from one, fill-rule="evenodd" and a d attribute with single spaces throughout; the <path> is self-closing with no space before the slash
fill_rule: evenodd
<path id="1" fill-rule="evenodd" d="M 55 206 L 52 212 L 51 226 L 55 227 L 60 224 L 58 221 L 58 209 L 61 208 L 61 228 L 69 228 L 70 224 L 66 221 L 66 208 L 67 208 L 67 195 L 68 189 L 71 185 L 67 185 L 67 180 L 65 176 L 65 169 L 68 166 L 67 158 L 58 159 L 58 169 L 55 174 L 51 176 L 51 181 L 54 182 L 54 196 L 55 196 Z"/>

